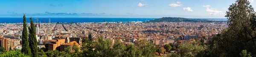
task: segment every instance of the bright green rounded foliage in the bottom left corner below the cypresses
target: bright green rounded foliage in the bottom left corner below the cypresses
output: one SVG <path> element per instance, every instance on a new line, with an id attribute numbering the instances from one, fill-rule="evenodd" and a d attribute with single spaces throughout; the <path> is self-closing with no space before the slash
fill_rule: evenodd
<path id="1" fill-rule="evenodd" d="M 21 53 L 20 50 L 11 50 L 3 54 L 0 54 L 0 57 L 30 57 L 24 53 Z"/>

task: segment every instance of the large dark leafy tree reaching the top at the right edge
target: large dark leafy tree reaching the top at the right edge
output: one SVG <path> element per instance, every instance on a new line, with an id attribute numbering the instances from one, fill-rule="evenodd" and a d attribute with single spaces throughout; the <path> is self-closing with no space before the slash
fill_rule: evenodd
<path id="1" fill-rule="evenodd" d="M 255 47 L 256 16 L 250 2 L 237 0 L 230 5 L 225 17 L 228 27 L 213 44 L 220 50 L 218 53 L 224 57 L 239 57 L 242 50 L 250 49 L 249 52 L 256 54 L 255 48 L 251 48 Z"/>

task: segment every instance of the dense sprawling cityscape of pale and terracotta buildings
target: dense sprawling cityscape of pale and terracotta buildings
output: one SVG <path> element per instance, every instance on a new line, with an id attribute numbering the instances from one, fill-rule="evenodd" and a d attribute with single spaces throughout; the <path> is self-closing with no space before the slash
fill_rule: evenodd
<path id="1" fill-rule="evenodd" d="M 27 23 L 30 26 L 29 23 Z M 92 33 L 93 41 L 98 36 L 106 39 L 119 39 L 123 43 L 134 43 L 138 39 L 153 41 L 156 45 L 186 43 L 197 38 L 204 38 L 205 42 L 211 40 L 207 37 L 221 33 L 227 27 L 227 23 L 200 23 L 200 22 L 158 22 L 158 23 L 35 23 L 38 47 L 45 47 L 44 44 L 58 42 L 65 39 L 66 44 L 72 42 L 79 43 L 82 38 L 87 38 L 88 33 Z M 21 49 L 21 36 L 23 26 L 21 23 L 1 24 L 1 39 L 6 39 L 2 43 L 5 48 L 12 46 L 12 49 Z M 168 39 L 168 40 L 167 40 Z M 170 40 L 170 41 L 169 41 Z M 81 40 L 80 40 L 81 41 Z M 114 43 L 114 42 L 112 42 Z M 50 50 L 61 46 L 49 46 Z M 55 47 L 55 48 L 52 48 Z M 9 49 L 6 49 L 6 51 Z"/>

